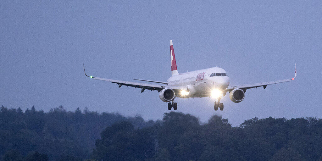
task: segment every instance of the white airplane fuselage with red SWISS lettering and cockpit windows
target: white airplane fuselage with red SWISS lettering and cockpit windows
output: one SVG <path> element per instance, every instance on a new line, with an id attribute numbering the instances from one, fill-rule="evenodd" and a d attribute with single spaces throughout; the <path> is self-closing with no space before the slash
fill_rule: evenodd
<path id="1" fill-rule="evenodd" d="M 216 76 L 213 73 L 220 74 L 217 74 Z M 221 76 L 221 73 L 225 73 L 226 76 Z M 214 89 L 225 90 L 229 86 L 229 77 L 222 68 L 213 67 L 180 73 L 170 77 L 167 82 L 170 86 L 185 86 L 189 89 L 189 94 L 182 96 L 176 93 L 175 95 L 177 97 L 208 97 Z"/>

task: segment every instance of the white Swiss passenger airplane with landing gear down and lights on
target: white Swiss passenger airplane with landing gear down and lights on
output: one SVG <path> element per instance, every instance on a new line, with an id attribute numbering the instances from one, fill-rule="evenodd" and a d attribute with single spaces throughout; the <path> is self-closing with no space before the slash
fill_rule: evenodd
<path id="1" fill-rule="evenodd" d="M 232 102 L 239 103 L 245 98 L 245 92 L 247 89 L 258 87 L 263 87 L 265 89 L 267 85 L 289 82 L 293 81 L 294 78 L 296 78 L 295 64 L 295 76 L 292 79 L 229 86 L 228 74 L 222 68 L 213 67 L 197 71 L 178 73 L 172 40 L 170 40 L 170 54 L 172 76 L 169 79 L 167 79 L 167 81 L 134 79 L 138 81 L 146 81 L 159 84 L 119 81 L 113 79 L 93 77 L 86 74 L 84 64 L 83 68 L 84 73 L 87 77 L 90 77 L 95 80 L 116 83 L 118 84 L 118 88 L 120 88 L 121 86 L 140 88 L 141 93 L 144 92 L 144 90 L 156 90 L 159 92 L 160 99 L 164 102 L 168 102 L 168 110 L 171 110 L 172 108 L 174 110 L 177 110 L 178 105 L 176 102 L 174 102 L 174 99 L 176 97 L 213 97 L 215 98 L 214 110 L 218 110 L 218 108 L 220 110 L 223 110 L 223 103 L 220 102 L 220 99 L 224 97 L 227 92 L 229 92 L 229 98 L 232 100 Z"/>

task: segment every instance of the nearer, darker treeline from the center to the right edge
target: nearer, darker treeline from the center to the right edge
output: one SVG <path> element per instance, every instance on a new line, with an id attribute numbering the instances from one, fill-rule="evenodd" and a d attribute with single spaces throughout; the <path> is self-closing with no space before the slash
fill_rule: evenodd
<path id="1" fill-rule="evenodd" d="M 322 120 L 253 118 L 239 127 L 214 115 L 201 125 L 189 114 L 165 113 L 152 127 L 115 123 L 96 141 L 92 160 L 103 161 L 316 161 L 322 160 Z"/>

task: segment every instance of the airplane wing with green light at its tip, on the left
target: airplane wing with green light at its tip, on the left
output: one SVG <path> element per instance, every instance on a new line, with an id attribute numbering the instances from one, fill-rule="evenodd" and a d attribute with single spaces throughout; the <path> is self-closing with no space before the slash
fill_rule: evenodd
<path id="1" fill-rule="evenodd" d="M 171 88 L 175 92 L 179 92 L 180 90 L 188 90 L 187 87 L 181 87 L 181 86 L 168 86 L 168 85 L 159 85 L 159 84 L 150 84 L 150 83 L 138 83 L 138 82 L 131 82 L 131 81 L 120 81 L 120 80 L 114 80 L 114 79 L 107 79 L 107 78 L 99 78 L 99 77 L 93 77 L 88 76 L 85 72 L 85 66 L 84 66 L 84 73 L 87 77 L 90 77 L 94 80 L 101 80 L 101 81 L 109 81 L 112 83 L 118 84 L 118 88 L 120 88 L 122 85 L 128 86 L 128 87 L 135 87 L 135 88 L 141 88 L 141 92 L 144 90 L 157 90 L 158 92 L 165 88 Z"/>

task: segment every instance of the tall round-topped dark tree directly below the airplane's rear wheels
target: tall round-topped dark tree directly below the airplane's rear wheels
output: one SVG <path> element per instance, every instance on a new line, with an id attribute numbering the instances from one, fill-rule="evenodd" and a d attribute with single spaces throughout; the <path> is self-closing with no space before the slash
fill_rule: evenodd
<path id="1" fill-rule="evenodd" d="M 159 146 L 169 150 L 172 160 L 197 160 L 203 149 L 199 119 L 179 112 L 165 113 L 158 129 Z"/>

